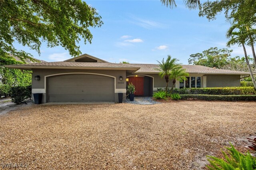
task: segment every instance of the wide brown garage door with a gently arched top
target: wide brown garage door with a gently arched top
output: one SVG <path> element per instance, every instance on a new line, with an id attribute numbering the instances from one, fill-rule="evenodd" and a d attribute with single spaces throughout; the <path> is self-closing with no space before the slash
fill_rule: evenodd
<path id="1" fill-rule="evenodd" d="M 92 74 L 49 77 L 48 101 L 114 101 L 114 78 Z"/>

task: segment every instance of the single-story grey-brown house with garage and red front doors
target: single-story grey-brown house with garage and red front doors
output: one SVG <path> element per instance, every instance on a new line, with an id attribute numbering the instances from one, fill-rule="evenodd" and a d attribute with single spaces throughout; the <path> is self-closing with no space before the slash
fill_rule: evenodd
<path id="1" fill-rule="evenodd" d="M 157 64 L 109 63 L 83 54 L 60 62 L 41 62 L 6 67 L 32 70 L 32 93 L 43 93 L 42 103 L 61 101 L 114 101 L 118 93 L 126 96 L 126 85 L 132 82 L 135 95 L 151 96 L 157 88 L 165 88 L 166 82 L 158 75 Z M 189 77 L 176 82 L 176 88 L 184 87 L 232 87 L 240 86 L 240 76 L 246 72 L 182 65 Z M 171 87 L 172 81 L 169 83 Z"/>

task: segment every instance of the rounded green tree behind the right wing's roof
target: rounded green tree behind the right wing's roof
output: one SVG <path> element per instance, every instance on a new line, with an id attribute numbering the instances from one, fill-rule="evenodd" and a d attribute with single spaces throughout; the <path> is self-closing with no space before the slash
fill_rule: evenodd
<path id="1" fill-rule="evenodd" d="M 228 57 L 230 57 L 231 52 L 232 50 L 230 49 L 211 47 L 202 53 L 191 54 L 188 63 L 220 68 L 228 63 Z"/>

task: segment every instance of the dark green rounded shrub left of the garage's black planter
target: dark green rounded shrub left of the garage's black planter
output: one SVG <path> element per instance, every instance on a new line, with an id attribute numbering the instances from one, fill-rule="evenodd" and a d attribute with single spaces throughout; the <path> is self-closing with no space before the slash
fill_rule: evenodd
<path id="1" fill-rule="evenodd" d="M 31 98 L 31 85 L 29 86 L 16 86 L 12 87 L 10 90 L 10 96 L 12 98 L 12 102 L 16 104 L 20 104 L 22 101 Z"/>

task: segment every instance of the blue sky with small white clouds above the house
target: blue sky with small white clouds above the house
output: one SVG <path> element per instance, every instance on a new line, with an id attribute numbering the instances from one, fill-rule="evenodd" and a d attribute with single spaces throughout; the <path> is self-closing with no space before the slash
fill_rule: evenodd
<path id="1" fill-rule="evenodd" d="M 198 10 L 188 10 L 183 1 L 176 0 L 177 8 L 162 6 L 160 0 L 98 1 L 88 0 L 98 10 L 104 24 L 90 28 L 92 43 L 79 43 L 82 53 L 109 62 L 157 63 L 171 55 L 188 64 L 190 54 L 210 47 L 226 47 L 226 30 L 230 24 L 223 15 L 208 21 L 198 16 Z M 63 47 L 48 48 L 42 43 L 41 55 L 28 47 L 15 44 L 35 58 L 63 61 L 71 58 Z M 233 46 L 232 56 L 243 55 L 241 47 Z M 250 55 L 250 48 L 247 47 Z"/>

